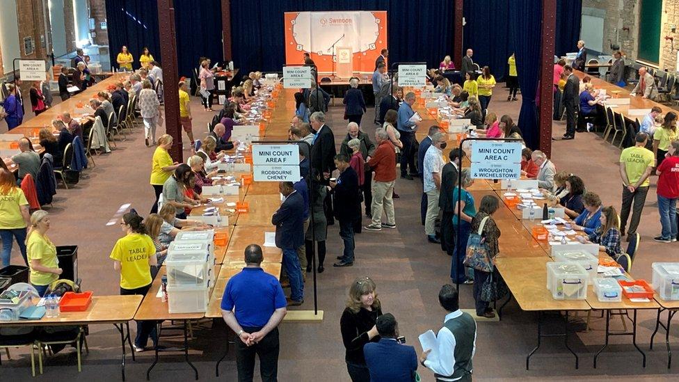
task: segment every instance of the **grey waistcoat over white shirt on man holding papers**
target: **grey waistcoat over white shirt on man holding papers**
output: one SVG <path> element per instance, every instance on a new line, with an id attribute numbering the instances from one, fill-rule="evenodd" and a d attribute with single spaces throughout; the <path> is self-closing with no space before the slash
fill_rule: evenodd
<path id="1" fill-rule="evenodd" d="M 455 369 L 453 375 L 444 376 L 434 374 L 436 378 L 457 379 L 472 374 L 472 351 L 474 351 L 474 337 L 477 323 L 471 315 L 463 312 L 460 317 L 449 319 L 443 324 L 455 336 Z M 464 379 L 463 379 L 464 380 Z"/>

